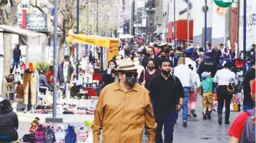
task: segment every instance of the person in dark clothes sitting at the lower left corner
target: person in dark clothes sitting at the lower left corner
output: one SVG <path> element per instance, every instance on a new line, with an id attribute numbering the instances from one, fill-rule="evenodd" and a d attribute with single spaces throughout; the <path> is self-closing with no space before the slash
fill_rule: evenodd
<path id="1" fill-rule="evenodd" d="M 11 102 L 7 99 L 0 101 L 0 142 L 17 141 L 17 129 L 18 115 L 12 111 Z"/>

